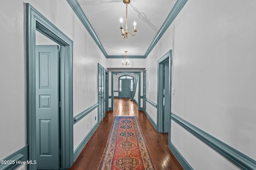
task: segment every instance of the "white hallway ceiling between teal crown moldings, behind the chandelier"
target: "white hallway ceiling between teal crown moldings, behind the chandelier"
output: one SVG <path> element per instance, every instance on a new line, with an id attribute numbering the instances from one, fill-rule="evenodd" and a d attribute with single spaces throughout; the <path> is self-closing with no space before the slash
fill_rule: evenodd
<path id="1" fill-rule="evenodd" d="M 128 34 L 123 39 L 120 18 L 125 30 L 126 4 L 123 0 L 77 0 L 100 45 L 108 56 L 144 56 L 164 24 L 176 0 L 130 0 L 128 4 Z M 103 51 L 104 51 L 103 50 Z"/>

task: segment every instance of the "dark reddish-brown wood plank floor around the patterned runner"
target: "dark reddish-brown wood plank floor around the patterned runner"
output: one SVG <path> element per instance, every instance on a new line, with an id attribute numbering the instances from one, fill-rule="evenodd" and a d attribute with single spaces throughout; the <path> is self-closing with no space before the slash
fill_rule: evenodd
<path id="1" fill-rule="evenodd" d="M 143 111 L 130 99 L 114 99 L 108 111 L 70 170 L 97 170 L 115 116 L 137 116 L 156 170 L 183 170 L 168 148 L 168 134 L 158 133 Z"/>

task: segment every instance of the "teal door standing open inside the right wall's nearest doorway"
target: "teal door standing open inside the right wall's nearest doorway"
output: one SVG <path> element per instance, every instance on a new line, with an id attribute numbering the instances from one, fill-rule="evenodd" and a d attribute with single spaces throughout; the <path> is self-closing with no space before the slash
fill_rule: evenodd
<path id="1" fill-rule="evenodd" d="M 169 132 L 170 127 L 170 99 L 169 99 L 169 61 L 164 63 L 164 133 Z"/>

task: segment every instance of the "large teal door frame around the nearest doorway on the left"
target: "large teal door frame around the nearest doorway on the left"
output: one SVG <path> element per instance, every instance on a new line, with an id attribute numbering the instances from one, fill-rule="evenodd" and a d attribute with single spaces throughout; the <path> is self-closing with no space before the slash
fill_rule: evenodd
<path id="1" fill-rule="evenodd" d="M 28 160 L 36 160 L 36 31 L 60 45 L 60 168 L 73 164 L 73 41 L 26 3 L 26 75 Z M 36 164 L 28 164 L 28 170 Z"/>

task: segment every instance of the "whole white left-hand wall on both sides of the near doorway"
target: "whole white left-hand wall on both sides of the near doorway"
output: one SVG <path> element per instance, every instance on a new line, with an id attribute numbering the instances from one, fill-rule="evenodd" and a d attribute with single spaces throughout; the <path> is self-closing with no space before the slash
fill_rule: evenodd
<path id="1" fill-rule="evenodd" d="M 98 65 L 106 58 L 66 1 L 27 0 L 74 42 L 74 116 L 98 102 Z M 0 159 L 26 145 L 26 7 L 8 0 L 0 6 Z M 39 41 L 39 42 L 38 42 Z M 45 43 L 39 38 L 37 43 Z M 95 125 L 94 109 L 74 125 L 74 149 Z M 89 123 L 89 125 L 88 125 Z"/>

